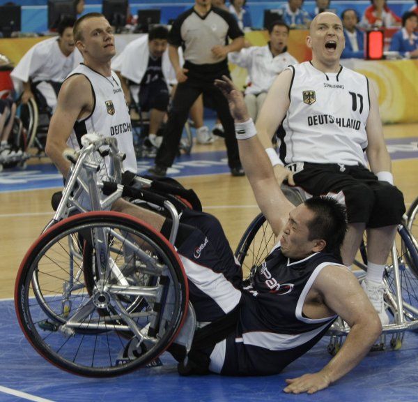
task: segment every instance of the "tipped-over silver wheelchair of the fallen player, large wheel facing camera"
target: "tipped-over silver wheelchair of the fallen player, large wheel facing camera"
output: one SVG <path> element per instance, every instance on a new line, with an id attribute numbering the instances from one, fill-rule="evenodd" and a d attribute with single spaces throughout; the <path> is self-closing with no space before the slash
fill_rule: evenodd
<path id="1" fill-rule="evenodd" d="M 196 318 L 172 246 L 179 224 L 173 202 L 188 204 L 185 191 L 168 184 L 180 193 L 171 202 L 157 194 L 160 183 L 134 178 L 134 195 L 171 216 L 167 241 L 132 216 L 105 211 L 133 194 L 122 184 L 124 155 L 114 138 L 90 138 L 67 157 L 73 165 L 56 214 L 17 274 L 15 306 L 26 338 L 52 364 L 93 377 L 156 365 L 174 340 L 190 350 Z M 98 163 L 102 158 L 111 161 L 109 169 Z M 82 201 L 86 192 L 90 212 Z"/>

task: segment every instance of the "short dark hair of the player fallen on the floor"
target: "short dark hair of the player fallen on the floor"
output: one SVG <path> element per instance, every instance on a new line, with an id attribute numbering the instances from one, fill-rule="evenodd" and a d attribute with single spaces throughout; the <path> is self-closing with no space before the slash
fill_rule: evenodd
<path id="1" fill-rule="evenodd" d="M 331 197 L 313 197 L 304 202 L 315 218 L 307 223 L 309 240 L 323 239 L 324 251 L 341 260 L 341 246 L 347 232 L 346 207 Z"/>

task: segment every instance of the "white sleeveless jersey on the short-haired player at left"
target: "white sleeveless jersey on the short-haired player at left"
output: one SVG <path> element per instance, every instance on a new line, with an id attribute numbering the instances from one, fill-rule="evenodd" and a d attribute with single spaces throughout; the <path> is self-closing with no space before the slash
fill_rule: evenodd
<path id="1" fill-rule="evenodd" d="M 123 170 L 136 173 L 137 158 L 132 140 L 131 120 L 118 76 L 112 71 L 111 76 L 105 77 L 84 64 L 72 70 L 68 77 L 77 74 L 84 75 L 90 81 L 94 108 L 88 117 L 76 121 L 68 139 L 68 146 L 79 149 L 81 138 L 86 133 L 95 132 L 104 137 L 115 137 L 118 140 L 118 149 L 126 155 Z"/>

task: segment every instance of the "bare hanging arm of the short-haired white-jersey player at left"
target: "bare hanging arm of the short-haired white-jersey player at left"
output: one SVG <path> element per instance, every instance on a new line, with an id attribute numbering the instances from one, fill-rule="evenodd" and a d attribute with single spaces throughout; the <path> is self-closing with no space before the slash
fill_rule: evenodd
<path id="1" fill-rule="evenodd" d="M 49 124 L 45 151 L 56 168 L 67 177 L 70 162 L 63 157 L 67 141 L 77 119 L 87 116 L 93 108 L 91 84 L 84 75 L 75 75 L 63 83 L 56 110 Z"/>

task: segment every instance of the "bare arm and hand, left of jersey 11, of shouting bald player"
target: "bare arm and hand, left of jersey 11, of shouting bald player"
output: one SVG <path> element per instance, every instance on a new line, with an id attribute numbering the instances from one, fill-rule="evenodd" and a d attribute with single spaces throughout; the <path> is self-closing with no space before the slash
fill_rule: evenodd
<path id="1" fill-rule="evenodd" d="M 290 105 L 289 90 L 291 88 L 292 77 L 292 70 L 284 70 L 279 74 L 268 91 L 267 97 L 258 114 L 256 128 L 264 149 L 272 147 L 274 133 L 276 133 L 281 121 L 286 116 Z M 288 184 L 295 184 L 293 174 L 282 165 L 276 165 L 274 167 L 274 174 L 279 184 L 285 179 L 287 179 Z"/>

